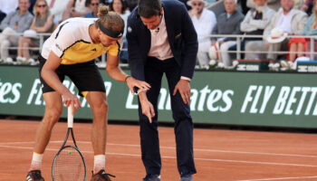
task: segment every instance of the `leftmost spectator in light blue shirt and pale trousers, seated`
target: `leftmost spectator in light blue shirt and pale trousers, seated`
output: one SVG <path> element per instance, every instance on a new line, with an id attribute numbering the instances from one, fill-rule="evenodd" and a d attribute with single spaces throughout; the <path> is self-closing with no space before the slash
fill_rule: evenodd
<path id="1" fill-rule="evenodd" d="M 18 44 L 19 35 L 15 33 L 23 33 L 32 23 L 33 15 L 27 11 L 29 6 L 29 0 L 19 0 L 19 9 L 8 14 L 0 24 L 0 29 L 3 30 L 0 34 L 0 54 L 5 62 L 13 62 L 8 48 Z"/>

